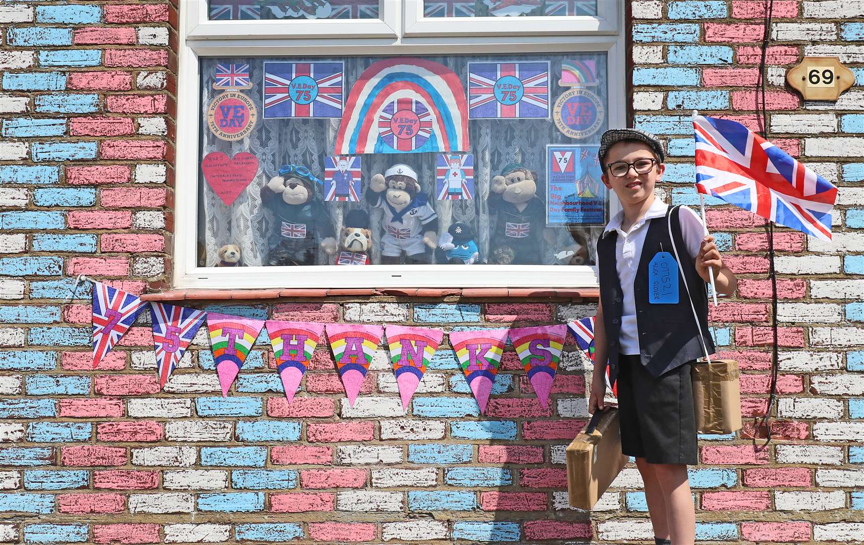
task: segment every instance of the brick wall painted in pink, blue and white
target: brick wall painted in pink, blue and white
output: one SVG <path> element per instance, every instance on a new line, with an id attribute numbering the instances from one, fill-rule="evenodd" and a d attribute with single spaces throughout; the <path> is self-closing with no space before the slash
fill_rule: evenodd
<path id="1" fill-rule="evenodd" d="M 691 108 L 756 126 L 763 5 L 632 3 L 635 123 L 668 141 L 664 192 L 673 202 L 696 203 Z M 778 419 L 772 446 L 754 449 L 769 383 L 766 236 L 746 212 L 709 212 L 741 279 L 734 301 L 711 312 L 721 352 L 745 372 L 746 426 L 700 440 L 701 464 L 691 470 L 697 537 L 861 541 L 864 92 L 856 86 L 836 105 L 804 104 L 784 74 L 803 54 L 836 54 L 864 79 L 864 3 L 774 6 L 772 140 L 841 187 L 835 239 L 778 231 Z M 224 400 L 202 333 L 162 393 L 143 322 L 89 369 L 89 288 L 73 294 L 70 276 L 136 293 L 164 282 L 175 10 L 156 1 L 3 3 L 0 23 L 0 541 L 651 538 L 633 466 L 594 513 L 567 507 L 563 447 L 584 424 L 589 379 L 576 352 L 564 356 L 550 409 L 505 353 L 484 417 L 447 346 L 407 413 L 381 351 L 353 408 L 323 346 L 290 405 L 264 339 Z M 593 314 L 589 301 L 453 297 L 208 307 L 444 327 Z"/>

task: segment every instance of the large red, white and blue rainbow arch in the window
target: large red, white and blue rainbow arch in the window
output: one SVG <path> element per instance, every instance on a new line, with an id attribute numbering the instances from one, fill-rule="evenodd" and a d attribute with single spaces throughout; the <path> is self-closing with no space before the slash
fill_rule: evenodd
<path id="1" fill-rule="evenodd" d="M 429 111 L 432 129 L 422 149 L 468 151 L 468 104 L 459 76 L 431 60 L 397 57 L 378 60 L 360 74 L 345 104 L 334 155 L 404 153 L 384 142 L 378 121 L 384 108 L 411 98 Z"/>

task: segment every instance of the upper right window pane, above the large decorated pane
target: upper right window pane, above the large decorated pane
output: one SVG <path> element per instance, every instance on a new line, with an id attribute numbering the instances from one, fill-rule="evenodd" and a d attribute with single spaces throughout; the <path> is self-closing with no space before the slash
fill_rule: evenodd
<path id="1" fill-rule="evenodd" d="M 595 16 L 598 0 L 423 0 L 426 17 Z"/>

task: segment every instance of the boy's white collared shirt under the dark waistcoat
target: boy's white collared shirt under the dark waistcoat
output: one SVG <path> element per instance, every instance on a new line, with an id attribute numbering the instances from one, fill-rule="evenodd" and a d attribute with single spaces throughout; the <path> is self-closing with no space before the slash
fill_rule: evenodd
<path id="1" fill-rule="evenodd" d="M 615 241 L 615 265 L 616 269 L 618 269 L 621 291 L 624 294 L 624 310 L 621 313 L 621 330 L 618 339 L 619 352 L 622 354 L 639 353 L 639 332 L 636 322 L 636 299 L 633 294 L 633 282 L 636 280 L 639 258 L 642 257 L 642 246 L 645 244 L 645 235 L 648 234 L 646 224 L 649 219 L 663 218 L 668 209 L 669 206 L 666 203 L 655 199 L 645 212 L 645 217 L 639 219 L 632 225 L 630 231 L 626 232 L 621 231 L 624 211 L 620 210 L 609 221 L 606 229 L 603 230 L 602 237 L 606 237 L 612 231 L 618 232 L 618 238 Z M 699 219 L 696 212 L 693 212 L 687 206 L 682 206 L 681 209 L 682 212 L 679 218 L 681 219 L 681 233 L 684 244 L 687 246 L 687 253 L 690 259 L 695 260 L 702 246 L 702 238 L 705 237 L 705 231 L 702 228 L 702 219 Z M 663 250 L 674 255 L 671 248 L 664 248 Z M 678 249 L 679 252 L 682 250 L 681 248 Z M 597 260 L 594 263 L 600 263 L 600 261 Z"/>

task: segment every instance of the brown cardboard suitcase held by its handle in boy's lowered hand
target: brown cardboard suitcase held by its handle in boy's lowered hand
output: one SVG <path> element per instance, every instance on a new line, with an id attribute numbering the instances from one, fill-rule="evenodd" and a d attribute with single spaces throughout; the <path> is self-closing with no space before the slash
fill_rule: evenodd
<path id="1" fill-rule="evenodd" d="M 596 411 L 567 447 L 570 506 L 593 508 L 628 460 L 621 453 L 618 409 Z"/>

